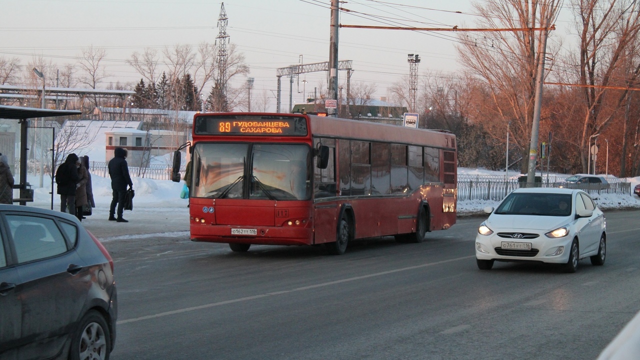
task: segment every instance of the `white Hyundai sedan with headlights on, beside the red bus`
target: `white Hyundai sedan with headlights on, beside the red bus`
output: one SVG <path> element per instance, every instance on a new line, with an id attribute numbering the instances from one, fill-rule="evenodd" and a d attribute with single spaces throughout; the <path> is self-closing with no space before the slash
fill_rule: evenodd
<path id="1" fill-rule="evenodd" d="M 521 188 L 490 214 L 476 236 L 476 261 L 490 270 L 494 261 L 538 261 L 562 264 L 575 272 L 578 261 L 605 261 L 604 214 L 588 193 L 564 188 Z"/>

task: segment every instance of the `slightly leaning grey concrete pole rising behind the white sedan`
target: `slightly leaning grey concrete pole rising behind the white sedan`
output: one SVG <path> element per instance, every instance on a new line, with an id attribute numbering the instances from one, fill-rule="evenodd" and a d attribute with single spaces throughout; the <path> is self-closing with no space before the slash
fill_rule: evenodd
<path id="1" fill-rule="evenodd" d="M 548 19 L 544 20 L 543 29 L 547 28 Z M 548 30 L 543 30 L 542 42 L 538 47 L 538 75 L 536 76 L 536 99 L 533 105 L 533 124 L 531 126 L 531 145 L 529 145 L 529 171 L 527 186 L 534 186 L 536 176 L 536 160 L 538 159 L 538 132 L 540 131 L 540 112 L 542 109 L 542 85 L 545 77 L 545 56 L 547 56 Z"/>

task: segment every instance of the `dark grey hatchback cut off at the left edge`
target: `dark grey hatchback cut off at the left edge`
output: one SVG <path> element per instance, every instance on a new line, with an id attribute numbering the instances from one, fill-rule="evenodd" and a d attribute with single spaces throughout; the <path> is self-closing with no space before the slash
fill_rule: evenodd
<path id="1" fill-rule="evenodd" d="M 109 359 L 113 259 L 76 217 L 0 205 L 0 359 Z"/>

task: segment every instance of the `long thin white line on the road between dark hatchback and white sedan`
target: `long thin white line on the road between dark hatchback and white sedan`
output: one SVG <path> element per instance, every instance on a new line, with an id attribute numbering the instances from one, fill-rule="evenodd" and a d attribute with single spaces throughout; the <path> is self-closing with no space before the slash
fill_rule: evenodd
<path id="1" fill-rule="evenodd" d="M 465 259 L 470 259 L 470 258 L 475 258 L 475 257 L 476 257 L 475 255 L 463 256 L 461 258 L 454 258 L 454 259 L 436 261 L 435 263 L 426 263 L 426 264 L 422 264 L 422 265 L 408 266 L 406 268 L 399 268 L 399 269 L 388 270 L 388 271 L 384 271 L 384 272 L 376 272 L 375 274 L 362 275 L 362 276 L 356 276 L 356 277 L 349 277 L 348 279 L 329 281 L 329 282 L 322 282 L 321 284 L 301 286 L 300 288 L 294 288 L 294 289 L 291 289 L 291 290 L 273 291 L 271 293 L 264 293 L 264 294 L 260 294 L 260 295 L 249 296 L 249 297 L 241 297 L 239 299 L 232 299 L 232 300 L 225 300 L 225 301 L 220 301 L 220 302 L 213 302 L 211 304 L 204 304 L 204 305 L 200 305 L 200 306 L 184 307 L 183 309 L 177 309 L 177 310 L 173 310 L 173 311 L 165 311 L 164 313 L 157 313 L 157 314 L 154 314 L 154 315 L 140 316 L 139 318 L 132 318 L 132 319 L 127 319 L 127 320 L 118 320 L 117 324 L 118 325 L 122 325 L 124 323 L 139 322 L 141 320 L 149 320 L 149 319 L 161 318 L 161 317 L 164 317 L 164 316 L 176 315 L 176 314 L 180 314 L 180 313 L 186 313 L 188 311 L 208 309 L 209 307 L 216 307 L 216 306 L 222 306 L 222 305 L 227 305 L 227 304 L 234 304 L 236 302 L 244 302 L 244 301 L 249 301 L 249 300 L 255 300 L 255 299 L 260 299 L 260 298 L 263 298 L 263 297 L 276 296 L 276 295 L 282 295 L 282 294 L 286 294 L 286 293 L 293 293 L 293 292 L 296 292 L 296 291 L 305 291 L 305 290 L 310 290 L 310 289 L 322 288 L 324 286 L 331 286 L 331 285 L 335 285 L 335 284 L 342 284 L 344 282 L 351 282 L 351 281 L 357 281 L 357 280 L 362 280 L 362 279 L 369 279 L 371 277 L 378 277 L 378 276 L 383 276 L 383 275 L 388 275 L 388 274 L 394 274 L 396 272 L 403 272 L 403 271 L 407 271 L 407 270 L 415 270 L 415 269 L 419 269 L 419 268 L 426 268 L 427 266 L 442 265 L 442 264 L 446 264 L 446 263 L 451 263 L 453 261 L 460 261 L 460 260 L 465 260 Z"/>

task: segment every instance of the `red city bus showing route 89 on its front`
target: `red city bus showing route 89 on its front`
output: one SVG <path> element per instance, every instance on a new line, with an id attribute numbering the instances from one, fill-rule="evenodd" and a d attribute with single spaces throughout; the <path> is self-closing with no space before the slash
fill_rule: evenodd
<path id="1" fill-rule="evenodd" d="M 351 240 L 421 242 L 456 222 L 449 132 L 316 115 L 198 113 L 191 145 L 192 241 L 240 252 L 324 244 L 342 254 Z"/>

